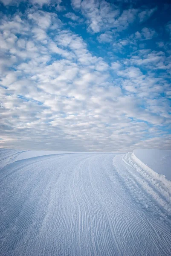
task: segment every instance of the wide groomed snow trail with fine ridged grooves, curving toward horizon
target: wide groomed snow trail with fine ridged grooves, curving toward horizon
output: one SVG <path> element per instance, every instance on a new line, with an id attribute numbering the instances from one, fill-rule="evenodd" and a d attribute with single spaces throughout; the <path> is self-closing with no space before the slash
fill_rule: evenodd
<path id="1" fill-rule="evenodd" d="M 47 155 L 1 169 L 0 254 L 171 255 L 169 203 L 122 156 Z"/>

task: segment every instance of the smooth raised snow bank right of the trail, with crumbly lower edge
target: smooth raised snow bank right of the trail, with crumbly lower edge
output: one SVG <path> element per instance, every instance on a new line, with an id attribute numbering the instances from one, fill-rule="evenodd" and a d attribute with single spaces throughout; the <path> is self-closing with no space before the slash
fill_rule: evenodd
<path id="1" fill-rule="evenodd" d="M 131 157 L 157 179 L 171 180 L 171 150 L 136 149 Z"/>

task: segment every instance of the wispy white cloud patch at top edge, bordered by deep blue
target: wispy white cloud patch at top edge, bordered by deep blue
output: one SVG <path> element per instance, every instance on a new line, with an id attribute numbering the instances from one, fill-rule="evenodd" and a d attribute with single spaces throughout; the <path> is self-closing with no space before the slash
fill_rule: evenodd
<path id="1" fill-rule="evenodd" d="M 87 18 L 87 30 L 93 33 L 111 28 L 122 31 L 129 26 L 129 23 L 133 22 L 138 12 L 136 9 L 121 12 L 117 6 L 104 0 L 72 0 L 72 6 L 81 10 L 81 13 Z"/>

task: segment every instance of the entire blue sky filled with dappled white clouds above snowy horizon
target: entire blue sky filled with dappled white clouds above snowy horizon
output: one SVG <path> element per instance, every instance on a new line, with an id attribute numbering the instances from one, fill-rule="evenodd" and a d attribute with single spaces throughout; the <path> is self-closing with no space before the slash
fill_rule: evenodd
<path id="1" fill-rule="evenodd" d="M 171 3 L 0 0 L 0 147 L 171 149 Z"/>

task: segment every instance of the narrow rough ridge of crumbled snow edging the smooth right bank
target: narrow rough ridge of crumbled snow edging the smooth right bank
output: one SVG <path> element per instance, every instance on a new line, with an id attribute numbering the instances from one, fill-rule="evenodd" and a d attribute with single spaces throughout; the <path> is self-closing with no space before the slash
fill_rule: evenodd
<path id="1" fill-rule="evenodd" d="M 145 163 L 143 163 L 138 157 L 136 157 L 134 153 L 131 154 L 131 158 L 145 172 L 147 172 L 149 175 L 151 175 L 155 179 L 161 181 L 171 191 L 171 181 L 168 180 L 165 177 L 165 175 L 159 174 L 159 173 L 155 172 L 154 170 L 152 170 L 149 166 L 147 166 Z"/>

